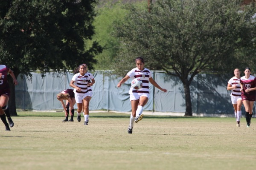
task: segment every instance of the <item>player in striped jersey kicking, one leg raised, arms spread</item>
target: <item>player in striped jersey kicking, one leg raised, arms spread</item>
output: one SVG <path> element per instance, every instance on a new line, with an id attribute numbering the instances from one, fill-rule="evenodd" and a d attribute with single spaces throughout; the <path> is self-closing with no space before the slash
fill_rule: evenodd
<path id="1" fill-rule="evenodd" d="M 137 123 L 143 119 L 143 107 L 147 104 L 149 98 L 149 82 L 151 82 L 152 85 L 161 91 L 167 91 L 166 89 L 161 88 L 157 82 L 154 81 L 151 71 L 147 68 L 144 68 L 143 57 L 137 57 L 135 59 L 135 63 L 137 67 L 129 71 L 127 75 L 117 84 L 117 87 L 121 87 L 121 85 L 124 84 L 129 78 L 139 78 L 143 82 L 142 88 L 136 90 L 131 87 L 129 90 L 131 101 L 131 116 L 128 133 L 132 133 L 134 122 Z"/>

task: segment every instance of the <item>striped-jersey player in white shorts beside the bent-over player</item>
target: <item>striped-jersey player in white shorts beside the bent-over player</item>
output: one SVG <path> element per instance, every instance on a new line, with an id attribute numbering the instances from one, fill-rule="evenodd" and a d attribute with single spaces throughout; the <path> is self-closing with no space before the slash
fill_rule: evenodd
<path id="1" fill-rule="evenodd" d="M 75 74 L 70 82 L 70 86 L 74 88 L 77 104 L 77 121 L 81 121 L 81 111 L 83 111 L 84 125 L 88 125 L 89 122 L 89 103 L 93 96 L 89 86 L 94 83 L 93 74 L 87 72 L 87 65 L 85 64 L 79 65 L 79 73 Z"/>

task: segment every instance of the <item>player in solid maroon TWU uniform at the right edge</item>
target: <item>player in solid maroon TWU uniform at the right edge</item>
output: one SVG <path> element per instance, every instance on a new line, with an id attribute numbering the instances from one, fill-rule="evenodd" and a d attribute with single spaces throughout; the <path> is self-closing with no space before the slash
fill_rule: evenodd
<path id="1" fill-rule="evenodd" d="M 251 117 L 253 116 L 253 104 L 256 100 L 256 77 L 250 75 L 250 68 L 245 68 L 245 76 L 241 77 L 241 97 L 245 108 L 245 119 L 247 127 L 250 127 Z"/>

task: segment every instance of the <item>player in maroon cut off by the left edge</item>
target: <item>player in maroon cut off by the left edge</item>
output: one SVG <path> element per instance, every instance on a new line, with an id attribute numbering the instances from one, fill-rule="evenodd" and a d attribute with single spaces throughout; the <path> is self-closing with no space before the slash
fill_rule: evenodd
<path id="1" fill-rule="evenodd" d="M 0 107 L 3 109 L 5 114 L 0 113 L 0 118 L 6 126 L 6 131 L 10 131 L 10 127 L 14 126 L 11 115 L 9 113 L 8 101 L 10 96 L 10 87 L 7 81 L 7 75 L 10 74 L 14 85 L 17 85 L 18 82 L 13 74 L 13 71 L 8 68 L 6 65 L 0 65 Z M 8 119 L 9 124 L 6 121 L 6 117 Z"/>

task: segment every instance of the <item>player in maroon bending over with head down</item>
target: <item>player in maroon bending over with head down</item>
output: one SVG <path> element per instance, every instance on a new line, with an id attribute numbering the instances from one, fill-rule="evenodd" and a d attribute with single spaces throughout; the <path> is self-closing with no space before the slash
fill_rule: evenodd
<path id="1" fill-rule="evenodd" d="M 65 119 L 62 122 L 74 122 L 74 105 L 76 103 L 76 100 L 73 89 L 65 89 L 64 91 L 61 91 L 61 93 L 57 94 L 57 99 L 61 102 L 61 105 L 65 111 Z M 66 105 L 64 104 L 63 100 L 66 100 Z M 68 114 L 70 114 L 70 120 L 68 120 Z"/>

